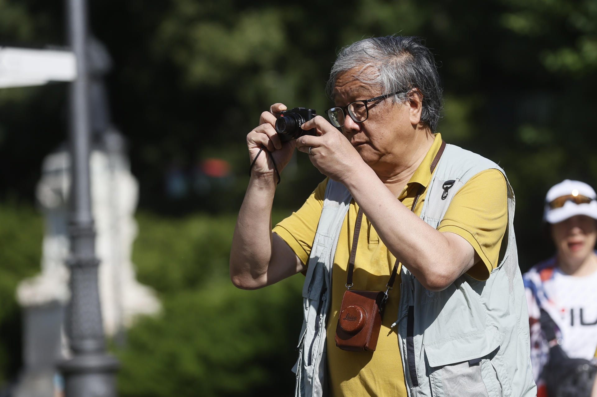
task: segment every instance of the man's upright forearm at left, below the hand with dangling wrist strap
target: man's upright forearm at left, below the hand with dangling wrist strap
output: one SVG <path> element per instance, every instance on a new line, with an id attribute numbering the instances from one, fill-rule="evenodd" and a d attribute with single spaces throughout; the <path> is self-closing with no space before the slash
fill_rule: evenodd
<path id="1" fill-rule="evenodd" d="M 238 213 L 230 250 L 230 278 L 239 288 L 255 287 L 272 256 L 275 177 L 251 176 Z"/>

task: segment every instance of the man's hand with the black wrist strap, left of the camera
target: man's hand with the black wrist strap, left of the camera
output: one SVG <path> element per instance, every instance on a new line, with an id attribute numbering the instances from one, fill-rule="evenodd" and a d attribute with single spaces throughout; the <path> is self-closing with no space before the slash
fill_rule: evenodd
<path id="1" fill-rule="evenodd" d="M 293 156 L 296 141 L 291 140 L 282 142 L 278 133 L 276 133 L 276 115 L 282 112 L 282 110 L 286 110 L 285 104 L 274 103 L 270 106 L 269 112 L 261 113 L 259 126 L 253 128 L 253 130 L 247 134 L 247 147 L 249 149 L 249 159 L 251 163 L 262 146 L 269 151 L 269 153 L 261 153 L 259 158 L 257 158 L 257 161 L 251 169 L 251 174 L 254 176 L 264 176 L 275 172 L 270 156 L 273 156 L 279 173 L 282 173 L 282 170 Z M 276 177 L 274 176 L 274 178 Z"/>

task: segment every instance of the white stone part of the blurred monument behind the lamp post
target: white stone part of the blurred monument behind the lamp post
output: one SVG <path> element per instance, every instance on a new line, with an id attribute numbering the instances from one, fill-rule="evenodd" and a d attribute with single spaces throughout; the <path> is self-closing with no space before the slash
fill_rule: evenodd
<path id="1" fill-rule="evenodd" d="M 104 136 L 119 140 L 119 134 Z M 114 142 L 112 142 L 114 143 Z M 96 251 L 100 259 L 99 282 L 104 331 L 118 336 L 139 314 L 155 313 L 159 303 L 152 290 L 135 278 L 131 250 L 137 235 L 134 211 L 139 187 L 121 153 L 98 147 L 91 153 L 91 197 L 96 226 Z M 67 200 L 70 189 L 70 158 L 66 150 L 44 160 L 37 198 L 46 219 L 42 273 L 26 279 L 17 289 L 22 306 L 40 306 L 52 301 L 66 303 L 69 297 L 65 260 L 69 254 Z"/>

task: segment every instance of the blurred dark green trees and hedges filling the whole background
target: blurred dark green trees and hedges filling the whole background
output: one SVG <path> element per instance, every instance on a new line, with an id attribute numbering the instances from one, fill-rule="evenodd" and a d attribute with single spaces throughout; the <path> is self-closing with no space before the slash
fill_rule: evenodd
<path id="1" fill-rule="evenodd" d="M 0 0 L 0 45 L 64 45 L 63 14 L 53 2 Z M 242 394 L 288 375 L 276 360 L 294 358 L 284 346 L 294 340 L 295 325 L 272 324 L 257 307 L 271 301 L 286 321 L 282 313 L 296 310 L 289 302 L 300 277 L 263 291 L 234 290 L 226 281 L 234 222 L 228 214 L 238 211 L 247 185 L 245 135 L 277 101 L 327 109 L 324 85 L 343 45 L 392 33 L 425 38 L 444 82 L 439 131 L 449 143 L 498 162 L 514 187 L 523 270 L 551 254 L 540 232 L 546 190 L 564 178 L 597 185 L 594 0 L 106 0 L 90 2 L 90 17 L 114 60 L 107 76 L 113 122 L 129 141 L 140 181 L 144 211 L 135 261 L 165 305 L 161 318 L 131 331 L 130 350 L 121 352 L 125 395 L 141 387 L 155 396 L 196 394 L 191 389 Z M 0 371 L 8 376 L 16 359 L 7 337 L 19 328 L 12 289 L 39 263 L 41 223 L 27 208 L 42 158 L 66 138 L 66 91 L 63 84 L 0 90 L 0 201 L 12 203 L 0 212 L 0 245 L 11 245 L 0 250 Z M 229 162 L 230 175 L 202 176 L 207 158 Z M 168 195 L 166 183 L 173 170 L 187 184 L 177 197 Z M 280 216 L 321 179 L 299 153 L 276 192 L 275 207 L 287 209 Z M 197 211 L 221 216 L 181 217 Z M 219 343 L 217 337 L 229 339 L 217 344 L 226 352 L 221 358 L 204 351 L 204 342 Z M 241 341 L 255 349 L 244 350 L 249 346 Z M 267 342 L 275 349 L 262 351 Z M 153 359 L 152 351 L 170 361 Z M 236 371 L 238 379 L 228 378 Z"/>

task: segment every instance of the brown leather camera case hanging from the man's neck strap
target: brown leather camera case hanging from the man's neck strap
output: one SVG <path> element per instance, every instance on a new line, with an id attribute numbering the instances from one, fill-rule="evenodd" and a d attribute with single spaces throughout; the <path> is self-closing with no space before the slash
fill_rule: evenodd
<path id="1" fill-rule="evenodd" d="M 381 291 L 347 290 L 342 298 L 336 346 L 351 352 L 374 352 L 381 327 Z"/>

